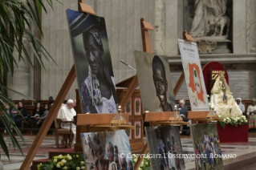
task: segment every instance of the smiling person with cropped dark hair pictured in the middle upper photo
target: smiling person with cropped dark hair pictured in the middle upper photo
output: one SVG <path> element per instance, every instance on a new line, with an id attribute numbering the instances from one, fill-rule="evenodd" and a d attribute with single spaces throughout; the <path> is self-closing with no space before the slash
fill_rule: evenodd
<path id="1" fill-rule="evenodd" d="M 156 87 L 156 96 L 160 101 L 160 107 L 156 111 L 173 111 L 169 102 L 168 81 L 165 75 L 165 66 L 159 56 L 155 55 L 152 60 L 153 81 Z"/>

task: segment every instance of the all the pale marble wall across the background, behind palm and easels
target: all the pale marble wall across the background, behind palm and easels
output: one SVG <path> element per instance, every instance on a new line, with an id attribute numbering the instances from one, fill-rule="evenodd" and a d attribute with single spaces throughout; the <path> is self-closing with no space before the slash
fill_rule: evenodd
<path id="1" fill-rule="evenodd" d="M 94 8 L 96 14 L 106 19 L 116 83 L 136 74 L 135 71 L 120 63 L 120 59 L 135 67 L 133 50 L 142 51 L 140 35 L 140 18 L 142 17 L 147 22 L 152 23 L 155 28 L 154 31 L 149 31 L 154 53 L 169 56 L 170 63 L 176 59 L 177 64 L 181 64 L 177 38 L 182 38 L 182 30 L 185 29 L 185 1 L 187 0 L 85 0 L 85 3 Z M 47 6 L 47 14 L 43 13 L 42 15 L 44 32 L 42 41 L 57 65 L 52 61 L 49 63 L 43 59 L 46 69 L 42 70 L 42 99 L 48 99 L 50 95 L 56 97 L 74 63 L 65 10 L 67 8 L 77 10 L 77 0 L 62 0 L 63 5 L 56 1 L 53 3 L 55 10 L 53 11 L 50 6 Z M 238 61 L 256 63 L 256 1 L 233 0 L 233 16 L 234 54 L 231 54 L 232 58 L 230 55 L 216 55 L 215 59 L 219 59 L 222 63 L 232 62 L 230 59 L 234 58 L 236 63 Z M 207 58 L 206 55 L 201 57 L 201 59 Z M 243 71 L 247 71 L 244 77 L 242 77 L 242 74 L 245 74 Z M 243 82 L 249 82 L 251 79 L 251 86 L 255 88 L 256 83 L 252 79 L 254 73 L 255 71 L 246 69 L 238 72 L 231 71 L 230 79 L 232 79 L 232 75 L 234 75 L 234 79 L 243 79 Z M 173 87 L 180 75 L 181 72 L 179 71 L 172 72 Z M 33 76 L 33 69 L 28 63 L 21 62 L 18 69 L 15 69 L 14 79 L 9 76 L 8 87 L 33 97 Z M 239 81 L 239 83 L 241 82 Z M 234 87 L 231 87 L 234 89 L 234 96 L 240 95 L 242 98 L 251 98 L 250 92 L 246 92 L 250 91 L 248 90 L 250 86 L 248 85 L 248 89 L 245 86 L 245 84 L 239 86 L 235 84 Z M 241 87 L 247 89 L 245 93 L 239 92 Z M 76 80 L 66 99 L 75 97 L 75 88 L 77 88 Z M 9 93 L 9 95 L 12 99 L 22 98 L 14 93 Z M 182 97 L 188 98 L 185 83 L 177 95 L 178 99 Z"/>

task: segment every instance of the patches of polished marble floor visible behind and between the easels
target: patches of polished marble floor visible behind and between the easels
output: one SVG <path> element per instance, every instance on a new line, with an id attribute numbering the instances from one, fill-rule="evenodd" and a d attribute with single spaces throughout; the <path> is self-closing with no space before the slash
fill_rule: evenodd
<path id="1" fill-rule="evenodd" d="M 8 160 L 8 158 L 2 152 L 2 149 L 0 149 L 1 161 L 4 166 L 4 169 L 5 170 L 19 169 L 25 157 L 22 156 L 22 154 L 18 151 L 17 148 L 14 149 L 12 147 L 10 137 L 6 136 L 4 137 L 4 140 L 6 140 L 6 144 L 8 145 L 8 148 L 10 151 L 10 160 Z M 22 144 L 22 140 L 18 138 L 18 141 L 21 144 L 24 156 L 26 156 L 26 153 L 29 151 L 30 145 L 35 140 L 35 136 L 24 136 L 24 140 L 25 140 L 25 144 Z M 190 137 L 182 137 L 181 143 L 182 143 L 182 149 L 184 154 L 193 153 L 193 144 L 192 144 L 192 139 Z M 41 160 L 41 159 L 47 158 L 48 152 L 54 148 L 55 148 L 55 137 L 47 136 L 43 140 L 43 144 L 41 145 L 39 152 L 35 156 L 34 160 Z M 256 137 L 250 136 L 249 143 L 221 144 L 221 152 L 226 154 L 237 154 L 238 158 L 240 156 L 241 159 L 244 159 L 245 156 L 248 156 L 250 154 L 256 156 Z M 238 161 L 238 158 L 235 161 Z M 233 161 L 232 158 L 224 159 L 224 164 L 230 164 L 230 162 L 232 161 Z M 256 161 L 254 162 L 256 163 Z M 185 167 L 186 169 L 194 169 L 195 168 L 194 160 L 185 159 Z M 241 168 L 241 169 L 256 169 L 256 164 L 252 164 L 246 168 Z"/>

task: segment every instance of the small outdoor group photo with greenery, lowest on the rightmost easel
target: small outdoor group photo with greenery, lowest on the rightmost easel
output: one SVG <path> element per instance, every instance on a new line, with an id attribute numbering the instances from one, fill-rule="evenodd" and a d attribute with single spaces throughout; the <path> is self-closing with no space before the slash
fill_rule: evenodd
<path id="1" fill-rule="evenodd" d="M 194 124 L 191 126 L 197 169 L 223 169 L 221 145 L 216 123 Z"/>

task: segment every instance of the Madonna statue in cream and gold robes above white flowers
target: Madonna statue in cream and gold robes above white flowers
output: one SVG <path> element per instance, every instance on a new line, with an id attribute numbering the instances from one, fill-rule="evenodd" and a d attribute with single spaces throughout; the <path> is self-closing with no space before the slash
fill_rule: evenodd
<path id="1" fill-rule="evenodd" d="M 213 85 L 210 97 L 211 107 L 214 107 L 217 115 L 222 117 L 238 117 L 242 111 L 235 102 L 230 87 L 226 83 L 225 71 L 220 71 Z"/>

